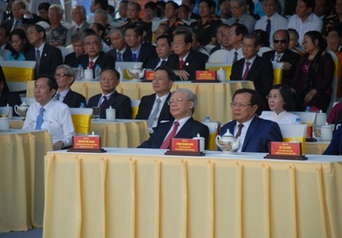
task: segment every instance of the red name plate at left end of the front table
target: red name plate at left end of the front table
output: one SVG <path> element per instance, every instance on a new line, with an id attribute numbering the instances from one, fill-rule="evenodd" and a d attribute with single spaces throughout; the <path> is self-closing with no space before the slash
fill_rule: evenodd
<path id="1" fill-rule="evenodd" d="M 73 136 L 73 145 L 68 151 L 105 152 L 104 149 L 101 149 L 100 136 Z"/>

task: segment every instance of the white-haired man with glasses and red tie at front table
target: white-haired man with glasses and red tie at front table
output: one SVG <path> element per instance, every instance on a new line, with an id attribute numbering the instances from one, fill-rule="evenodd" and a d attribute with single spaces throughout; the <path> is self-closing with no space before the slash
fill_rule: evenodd
<path id="1" fill-rule="evenodd" d="M 209 128 L 192 117 L 197 105 L 195 94 L 189 89 L 177 89 L 172 93 L 169 105 L 174 121 L 159 124 L 149 140 L 138 148 L 168 149 L 171 138 L 190 139 L 198 134 L 205 137 L 207 145 Z"/>

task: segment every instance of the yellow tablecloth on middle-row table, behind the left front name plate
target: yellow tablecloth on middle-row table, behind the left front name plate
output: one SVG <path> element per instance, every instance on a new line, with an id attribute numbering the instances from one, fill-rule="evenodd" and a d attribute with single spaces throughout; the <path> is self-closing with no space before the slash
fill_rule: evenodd
<path id="1" fill-rule="evenodd" d="M 10 128 L 21 129 L 24 121 L 10 120 Z M 91 131 L 101 136 L 103 147 L 136 148 L 149 138 L 147 121 L 102 120 L 91 122 Z"/>

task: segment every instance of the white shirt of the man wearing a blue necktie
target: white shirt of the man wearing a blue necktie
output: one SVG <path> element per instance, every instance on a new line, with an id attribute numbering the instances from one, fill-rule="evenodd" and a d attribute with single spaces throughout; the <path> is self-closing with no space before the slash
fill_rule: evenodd
<path id="1" fill-rule="evenodd" d="M 27 110 L 27 117 L 24 121 L 23 130 L 35 130 L 36 121 L 39 114 L 40 103 L 34 103 Z M 52 99 L 44 106 L 42 130 L 52 135 L 52 144 L 61 140 L 64 146 L 72 143 L 72 137 L 75 135 L 73 119 L 71 118 L 68 105 Z"/>

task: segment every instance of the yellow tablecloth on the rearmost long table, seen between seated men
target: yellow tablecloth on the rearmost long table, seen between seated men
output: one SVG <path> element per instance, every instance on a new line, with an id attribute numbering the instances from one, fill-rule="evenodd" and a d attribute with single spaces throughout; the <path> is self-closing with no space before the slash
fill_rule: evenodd
<path id="1" fill-rule="evenodd" d="M 242 87 L 254 89 L 251 81 L 225 82 L 225 83 L 188 83 L 175 82 L 174 89 L 191 89 L 198 96 L 198 107 L 194 117 L 199 121 L 204 121 L 205 117 L 211 117 L 211 121 L 221 121 L 225 124 L 232 120 L 232 110 L 230 103 L 232 95 L 237 89 Z M 71 87 L 74 91 L 90 98 L 101 93 L 99 82 L 75 82 Z M 121 94 L 129 96 L 131 100 L 140 100 L 142 96 L 153 94 L 150 82 L 121 82 L 117 87 Z M 27 82 L 27 97 L 34 97 L 34 81 Z"/>

